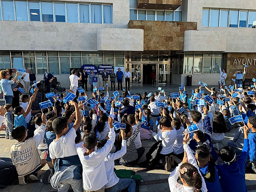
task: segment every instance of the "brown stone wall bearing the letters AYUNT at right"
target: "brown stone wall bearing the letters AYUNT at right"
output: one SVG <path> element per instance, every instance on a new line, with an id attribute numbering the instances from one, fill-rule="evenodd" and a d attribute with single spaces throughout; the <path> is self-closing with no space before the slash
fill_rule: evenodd
<path id="1" fill-rule="evenodd" d="M 248 65 L 245 78 L 256 78 L 256 53 L 227 53 L 225 56 L 227 67 L 227 84 L 232 82 L 233 74 L 237 70 L 244 71 L 244 65 Z"/>

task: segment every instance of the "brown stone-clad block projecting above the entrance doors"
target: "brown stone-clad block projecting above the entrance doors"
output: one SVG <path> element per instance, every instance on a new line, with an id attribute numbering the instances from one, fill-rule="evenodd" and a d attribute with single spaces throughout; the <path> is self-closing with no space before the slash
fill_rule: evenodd
<path id="1" fill-rule="evenodd" d="M 128 28 L 144 30 L 145 50 L 183 50 L 184 31 L 196 30 L 196 22 L 130 20 Z"/>

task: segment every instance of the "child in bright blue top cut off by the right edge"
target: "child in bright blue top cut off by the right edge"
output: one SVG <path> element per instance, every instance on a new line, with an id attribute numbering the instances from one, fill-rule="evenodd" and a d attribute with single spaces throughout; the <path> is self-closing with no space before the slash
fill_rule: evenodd
<path id="1" fill-rule="evenodd" d="M 249 165 L 252 166 L 252 170 L 256 173 L 256 116 L 249 117 L 247 125 L 250 129 L 250 133 L 248 134 L 250 157 Z"/>

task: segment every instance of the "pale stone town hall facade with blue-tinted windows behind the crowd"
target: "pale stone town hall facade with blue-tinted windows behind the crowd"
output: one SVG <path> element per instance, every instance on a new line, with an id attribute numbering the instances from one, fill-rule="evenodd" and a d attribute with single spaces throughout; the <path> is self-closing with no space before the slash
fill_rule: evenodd
<path id="1" fill-rule="evenodd" d="M 256 69 L 254 0 L 0 0 L 0 68 L 50 72 L 69 86 L 70 68 L 129 68 L 134 86 L 205 81 L 216 63 Z"/>

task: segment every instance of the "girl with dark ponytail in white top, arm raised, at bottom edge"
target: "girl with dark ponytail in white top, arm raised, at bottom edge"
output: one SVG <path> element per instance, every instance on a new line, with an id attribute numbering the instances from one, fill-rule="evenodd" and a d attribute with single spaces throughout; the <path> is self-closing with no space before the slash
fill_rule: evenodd
<path id="1" fill-rule="evenodd" d="M 207 192 L 204 178 L 202 177 L 194 155 L 188 146 L 189 134 L 183 139 L 184 158 L 168 178 L 171 192 Z M 182 184 L 177 182 L 180 177 Z"/>

